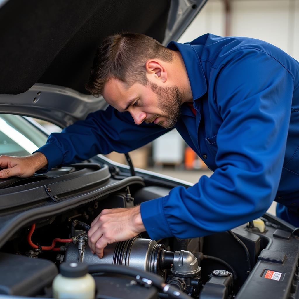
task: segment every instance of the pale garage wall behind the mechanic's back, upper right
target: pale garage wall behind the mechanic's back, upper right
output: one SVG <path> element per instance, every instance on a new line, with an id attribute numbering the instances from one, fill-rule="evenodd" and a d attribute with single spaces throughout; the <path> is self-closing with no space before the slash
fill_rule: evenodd
<path id="1" fill-rule="evenodd" d="M 299 60 L 299 0 L 231 0 L 230 36 L 269 42 Z M 179 42 L 205 33 L 225 35 L 225 1 L 208 0 Z"/>

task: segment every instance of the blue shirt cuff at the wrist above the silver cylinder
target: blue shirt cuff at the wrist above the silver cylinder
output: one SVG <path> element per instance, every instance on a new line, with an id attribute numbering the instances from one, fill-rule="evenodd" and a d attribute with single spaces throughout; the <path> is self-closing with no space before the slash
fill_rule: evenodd
<path id="1" fill-rule="evenodd" d="M 147 202 L 142 202 L 140 206 L 141 219 L 152 240 L 173 236 L 164 215 L 162 206 L 163 199 L 164 197 L 159 197 Z"/>

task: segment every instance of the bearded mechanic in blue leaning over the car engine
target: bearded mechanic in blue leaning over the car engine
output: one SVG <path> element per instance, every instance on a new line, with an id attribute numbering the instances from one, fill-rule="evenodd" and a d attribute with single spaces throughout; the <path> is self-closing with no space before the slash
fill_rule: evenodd
<path id="1" fill-rule="evenodd" d="M 266 42 L 205 34 L 165 48 L 135 33 L 107 37 L 87 89 L 106 111 L 52 133 L 29 157 L 1 156 L 1 178 L 96 154 L 129 152 L 175 127 L 214 171 L 188 189 L 129 209 L 103 210 L 91 250 L 147 231 L 182 239 L 225 231 L 263 215 L 299 226 L 299 63 Z"/>

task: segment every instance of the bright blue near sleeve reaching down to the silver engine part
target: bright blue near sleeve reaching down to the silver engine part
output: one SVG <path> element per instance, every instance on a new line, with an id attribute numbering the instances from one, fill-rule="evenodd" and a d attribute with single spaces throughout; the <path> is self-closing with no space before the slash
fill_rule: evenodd
<path id="1" fill-rule="evenodd" d="M 263 51 L 239 50 L 213 70 L 214 106 L 223 122 L 217 169 L 194 186 L 176 187 L 141 204 L 152 239 L 192 238 L 225 231 L 261 216 L 280 181 L 294 81 Z"/>

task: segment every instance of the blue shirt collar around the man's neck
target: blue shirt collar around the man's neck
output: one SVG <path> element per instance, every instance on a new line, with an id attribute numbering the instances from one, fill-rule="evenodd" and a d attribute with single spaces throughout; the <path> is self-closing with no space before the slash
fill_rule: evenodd
<path id="1" fill-rule="evenodd" d="M 199 57 L 192 45 L 170 42 L 167 48 L 179 50 L 187 70 L 193 100 L 202 97 L 207 92 L 207 81 Z"/>

